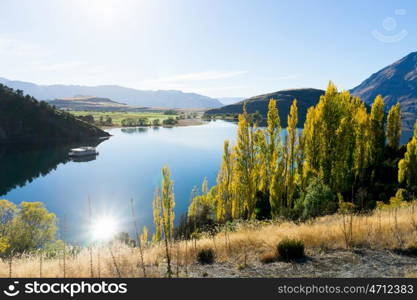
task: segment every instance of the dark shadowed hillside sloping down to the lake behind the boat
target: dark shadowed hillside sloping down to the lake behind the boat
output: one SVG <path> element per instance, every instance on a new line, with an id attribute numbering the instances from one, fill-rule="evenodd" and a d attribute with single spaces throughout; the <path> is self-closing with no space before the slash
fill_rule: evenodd
<path id="1" fill-rule="evenodd" d="M 75 142 L 108 136 L 69 113 L 0 84 L 0 144 Z"/>

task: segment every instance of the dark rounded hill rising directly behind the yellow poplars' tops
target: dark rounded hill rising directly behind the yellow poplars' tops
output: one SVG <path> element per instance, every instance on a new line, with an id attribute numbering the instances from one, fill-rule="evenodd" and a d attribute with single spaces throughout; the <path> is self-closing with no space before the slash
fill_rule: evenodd
<path id="1" fill-rule="evenodd" d="M 307 109 L 313 105 L 316 105 L 320 99 L 320 96 L 324 94 L 323 90 L 318 89 L 292 89 L 292 90 L 282 90 L 275 93 L 269 93 L 264 95 L 259 95 L 251 97 L 240 101 L 236 104 L 226 105 L 221 108 L 210 109 L 206 111 L 206 116 L 213 115 L 226 115 L 226 114 L 239 114 L 243 111 L 243 103 L 246 102 L 246 109 L 248 113 L 254 113 L 259 111 L 263 116 L 263 120 L 267 119 L 268 113 L 268 103 L 270 99 L 277 100 L 277 107 L 279 110 L 279 115 L 281 118 L 281 125 L 283 127 L 287 126 L 287 115 L 290 112 L 290 106 L 294 99 L 297 99 L 298 106 L 298 126 L 303 126 Z M 265 125 L 265 124 L 261 124 Z"/>

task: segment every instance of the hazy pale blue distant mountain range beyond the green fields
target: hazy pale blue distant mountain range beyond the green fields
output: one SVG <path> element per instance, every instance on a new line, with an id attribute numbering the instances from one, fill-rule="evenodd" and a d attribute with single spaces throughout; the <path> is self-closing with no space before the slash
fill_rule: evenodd
<path id="1" fill-rule="evenodd" d="M 74 95 L 93 95 L 133 106 L 167 108 L 215 108 L 222 106 L 217 99 L 174 90 L 143 91 L 117 85 L 37 85 L 5 78 L 0 78 L 0 83 L 22 90 L 40 100 L 67 98 Z"/>

